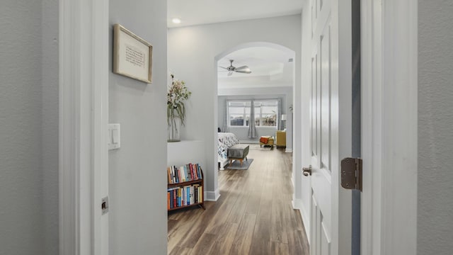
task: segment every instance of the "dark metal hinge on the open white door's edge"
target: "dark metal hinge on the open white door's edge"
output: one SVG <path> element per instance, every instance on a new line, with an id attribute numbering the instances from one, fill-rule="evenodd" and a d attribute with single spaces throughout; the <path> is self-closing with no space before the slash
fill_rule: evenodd
<path id="1" fill-rule="evenodd" d="M 341 186 L 362 191 L 362 159 L 345 158 L 341 161 Z"/>

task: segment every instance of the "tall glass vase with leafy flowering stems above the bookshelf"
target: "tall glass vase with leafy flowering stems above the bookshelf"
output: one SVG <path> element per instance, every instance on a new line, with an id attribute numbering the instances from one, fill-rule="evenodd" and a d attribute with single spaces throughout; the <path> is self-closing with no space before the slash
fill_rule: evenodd
<path id="1" fill-rule="evenodd" d="M 168 123 L 168 142 L 180 141 L 180 127 L 184 125 L 185 106 L 184 101 L 188 100 L 192 92 L 188 91 L 184 81 L 175 79 L 171 76 L 171 85 L 167 93 L 167 123 Z"/>

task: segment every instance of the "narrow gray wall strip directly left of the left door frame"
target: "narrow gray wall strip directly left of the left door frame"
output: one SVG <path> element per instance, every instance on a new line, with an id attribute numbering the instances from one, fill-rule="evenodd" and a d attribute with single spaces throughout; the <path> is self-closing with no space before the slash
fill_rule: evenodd
<path id="1" fill-rule="evenodd" d="M 42 206 L 46 255 L 59 253 L 58 23 L 59 1 L 42 0 Z"/>

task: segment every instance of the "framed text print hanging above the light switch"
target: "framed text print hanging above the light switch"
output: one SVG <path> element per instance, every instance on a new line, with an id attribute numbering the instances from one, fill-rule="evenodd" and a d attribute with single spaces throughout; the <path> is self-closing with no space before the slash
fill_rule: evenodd
<path id="1" fill-rule="evenodd" d="M 113 34 L 113 72 L 150 84 L 153 46 L 120 24 Z"/>

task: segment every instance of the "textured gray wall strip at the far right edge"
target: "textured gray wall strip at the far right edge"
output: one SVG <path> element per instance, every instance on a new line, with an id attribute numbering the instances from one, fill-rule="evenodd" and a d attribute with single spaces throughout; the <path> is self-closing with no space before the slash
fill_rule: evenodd
<path id="1" fill-rule="evenodd" d="M 453 251 L 453 1 L 418 1 L 418 254 Z"/>

